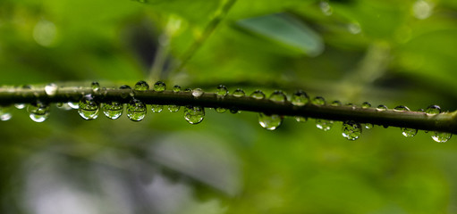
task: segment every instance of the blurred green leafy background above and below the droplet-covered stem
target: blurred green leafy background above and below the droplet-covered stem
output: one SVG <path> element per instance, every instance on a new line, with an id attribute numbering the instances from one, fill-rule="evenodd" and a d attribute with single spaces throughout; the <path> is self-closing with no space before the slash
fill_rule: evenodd
<path id="1" fill-rule="evenodd" d="M 233 4 L 230 6 L 230 4 Z M 226 15 L 225 15 L 226 14 Z M 453 0 L 0 2 L 0 85 L 201 87 L 457 109 Z M 182 111 L 0 121 L 0 212 L 457 213 L 455 139 Z"/>

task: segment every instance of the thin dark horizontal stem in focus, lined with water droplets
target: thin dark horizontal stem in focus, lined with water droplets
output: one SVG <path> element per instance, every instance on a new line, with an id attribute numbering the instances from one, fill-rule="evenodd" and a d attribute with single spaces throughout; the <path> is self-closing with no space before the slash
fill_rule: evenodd
<path id="1" fill-rule="evenodd" d="M 417 128 L 457 134 L 457 111 L 429 116 L 421 111 L 377 111 L 376 108 L 353 106 L 315 105 L 308 103 L 296 106 L 286 101 L 275 103 L 268 99 L 255 99 L 250 96 L 233 95 L 217 96 L 204 93 L 195 97 L 191 92 L 157 92 L 153 90 L 134 91 L 131 89 L 101 89 L 94 93 L 91 89 L 74 87 L 59 88 L 55 95 L 47 95 L 40 89 L 0 89 L 0 105 L 13 103 L 66 103 L 78 102 L 84 95 L 94 95 L 99 103 L 129 103 L 132 96 L 147 104 L 194 105 L 206 108 L 226 108 L 239 111 L 256 111 L 284 116 L 300 116 L 315 119 L 354 120 L 360 123 L 371 123 L 379 126 Z"/>

